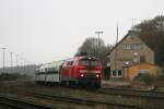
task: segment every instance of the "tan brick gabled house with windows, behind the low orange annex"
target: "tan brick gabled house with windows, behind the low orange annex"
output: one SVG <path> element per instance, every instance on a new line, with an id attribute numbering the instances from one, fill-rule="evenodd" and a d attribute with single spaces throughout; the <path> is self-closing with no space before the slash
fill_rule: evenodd
<path id="1" fill-rule="evenodd" d="M 154 64 L 154 51 L 138 36 L 138 32 L 129 31 L 107 55 L 110 77 L 125 77 L 125 68 L 132 64 Z"/>

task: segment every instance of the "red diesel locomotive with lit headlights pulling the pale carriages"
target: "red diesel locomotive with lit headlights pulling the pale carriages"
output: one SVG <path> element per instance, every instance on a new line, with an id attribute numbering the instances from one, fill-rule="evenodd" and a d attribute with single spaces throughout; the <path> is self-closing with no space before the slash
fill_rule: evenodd
<path id="1" fill-rule="evenodd" d="M 62 82 L 70 84 L 101 85 L 102 65 L 94 57 L 78 57 L 63 62 L 61 70 Z"/>

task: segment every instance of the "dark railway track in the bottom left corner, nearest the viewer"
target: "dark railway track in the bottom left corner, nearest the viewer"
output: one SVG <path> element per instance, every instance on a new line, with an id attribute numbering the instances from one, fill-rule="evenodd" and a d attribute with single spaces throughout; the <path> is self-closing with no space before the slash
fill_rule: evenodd
<path id="1" fill-rule="evenodd" d="M 0 95 L 0 105 L 4 105 L 13 109 L 61 109 L 59 107 L 46 106 L 30 100 L 13 98 L 3 95 Z"/>

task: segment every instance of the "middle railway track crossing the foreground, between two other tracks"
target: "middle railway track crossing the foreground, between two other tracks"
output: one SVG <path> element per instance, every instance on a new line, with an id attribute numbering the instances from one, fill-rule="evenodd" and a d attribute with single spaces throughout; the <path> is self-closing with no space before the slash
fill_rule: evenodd
<path id="1" fill-rule="evenodd" d="M 89 106 L 95 106 L 95 105 L 105 105 L 109 108 L 114 109 L 154 109 L 151 107 L 144 107 L 144 106 L 136 106 L 136 105 L 124 105 L 118 102 L 107 102 L 107 101 L 99 101 L 99 100 L 91 100 L 86 98 L 75 98 L 71 96 L 63 96 L 63 95 L 56 95 L 56 94 L 46 94 L 46 93 L 34 93 L 31 92 L 30 94 L 33 94 L 35 97 L 40 97 L 45 99 L 56 99 L 72 104 L 83 104 Z M 160 109 L 160 108 L 159 108 Z"/>

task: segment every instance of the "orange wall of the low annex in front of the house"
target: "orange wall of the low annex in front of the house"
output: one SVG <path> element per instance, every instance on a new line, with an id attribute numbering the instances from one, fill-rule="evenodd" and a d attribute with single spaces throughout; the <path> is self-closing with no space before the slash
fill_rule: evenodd
<path id="1" fill-rule="evenodd" d="M 125 78 L 132 81 L 140 71 L 149 71 L 152 76 L 157 76 L 157 66 L 149 63 L 140 63 L 125 69 Z"/>

